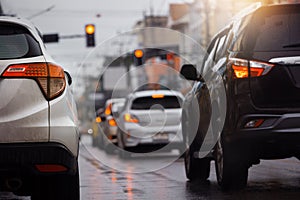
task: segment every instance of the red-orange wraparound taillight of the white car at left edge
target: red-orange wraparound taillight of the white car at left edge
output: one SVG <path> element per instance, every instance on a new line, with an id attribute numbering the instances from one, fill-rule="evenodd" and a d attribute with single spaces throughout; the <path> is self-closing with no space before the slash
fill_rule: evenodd
<path id="1" fill-rule="evenodd" d="M 62 94 L 66 87 L 64 70 L 52 63 L 26 63 L 10 65 L 4 78 L 31 78 L 37 81 L 47 100 Z"/>

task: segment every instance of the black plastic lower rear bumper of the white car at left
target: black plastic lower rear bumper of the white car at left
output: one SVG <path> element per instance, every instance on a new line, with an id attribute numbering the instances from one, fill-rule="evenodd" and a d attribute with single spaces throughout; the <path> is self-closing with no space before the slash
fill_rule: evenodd
<path id="1" fill-rule="evenodd" d="M 7 175 L 9 172 L 38 175 L 42 172 L 38 171 L 35 165 L 43 164 L 62 165 L 67 168 L 66 171 L 59 173 L 75 174 L 78 170 L 77 157 L 62 144 L 54 142 L 0 144 L 0 175 Z"/>

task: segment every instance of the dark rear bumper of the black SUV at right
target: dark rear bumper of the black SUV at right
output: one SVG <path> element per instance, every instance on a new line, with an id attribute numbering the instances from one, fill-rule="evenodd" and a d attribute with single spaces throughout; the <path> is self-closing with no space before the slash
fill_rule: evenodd
<path id="1" fill-rule="evenodd" d="M 239 123 L 240 127 L 252 119 L 265 121 L 259 128 L 241 128 L 225 135 L 233 152 L 252 160 L 300 157 L 300 113 L 247 115 Z"/>

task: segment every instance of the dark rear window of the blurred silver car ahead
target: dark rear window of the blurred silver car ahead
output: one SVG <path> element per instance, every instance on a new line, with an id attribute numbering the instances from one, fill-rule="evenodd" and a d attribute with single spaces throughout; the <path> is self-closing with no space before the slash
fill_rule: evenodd
<path id="1" fill-rule="evenodd" d="M 164 98 L 140 97 L 132 102 L 131 109 L 148 110 L 159 108 L 160 106 L 167 109 L 181 108 L 181 103 L 182 100 L 176 96 L 165 96 Z"/>

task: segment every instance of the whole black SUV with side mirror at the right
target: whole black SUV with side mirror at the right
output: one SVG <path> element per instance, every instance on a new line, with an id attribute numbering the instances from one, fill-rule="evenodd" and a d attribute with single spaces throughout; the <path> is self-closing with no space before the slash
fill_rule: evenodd
<path id="1" fill-rule="evenodd" d="M 260 159 L 300 159 L 300 4 L 234 20 L 181 75 L 195 81 L 182 114 L 188 179 L 206 180 L 214 160 L 222 189 L 241 189 Z"/>

